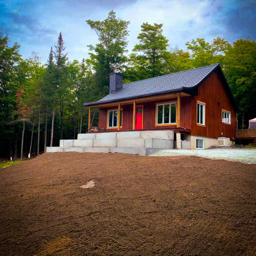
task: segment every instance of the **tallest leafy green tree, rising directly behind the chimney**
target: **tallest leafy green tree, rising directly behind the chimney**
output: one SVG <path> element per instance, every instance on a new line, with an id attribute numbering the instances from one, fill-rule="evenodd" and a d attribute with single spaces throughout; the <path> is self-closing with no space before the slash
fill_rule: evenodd
<path id="1" fill-rule="evenodd" d="M 89 45 L 91 59 L 88 63 L 95 71 L 95 87 L 99 94 L 109 92 L 109 74 L 122 72 L 126 61 L 125 52 L 128 35 L 127 26 L 130 22 L 117 18 L 111 11 L 108 18 L 102 21 L 87 20 L 87 24 L 95 30 L 99 43 L 96 46 Z"/>

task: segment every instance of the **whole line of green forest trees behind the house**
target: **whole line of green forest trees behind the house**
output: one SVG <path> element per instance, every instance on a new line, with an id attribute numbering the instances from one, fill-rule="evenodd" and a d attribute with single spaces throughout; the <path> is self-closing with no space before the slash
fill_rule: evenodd
<path id="1" fill-rule="evenodd" d="M 89 45 L 90 58 L 69 61 L 61 33 L 51 48 L 46 65 L 39 57 L 23 59 L 20 45 L 8 44 L 0 34 L 0 156 L 38 155 L 59 139 L 76 138 L 87 132 L 88 109 L 109 92 L 109 74 L 121 72 L 131 82 L 173 72 L 220 63 L 240 112 L 240 128 L 256 115 L 256 42 L 240 39 L 233 44 L 218 37 L 212 42 L 197 38 L 187 42 L 187 51 L 169 48 L 162 24 L 143 23 L 139 43 L 127 52 L 130 22 L 111 11 L 103 21 L 87 20 L 98 35 Z M 93 110 L 97 125 L 98 112 Z"/>

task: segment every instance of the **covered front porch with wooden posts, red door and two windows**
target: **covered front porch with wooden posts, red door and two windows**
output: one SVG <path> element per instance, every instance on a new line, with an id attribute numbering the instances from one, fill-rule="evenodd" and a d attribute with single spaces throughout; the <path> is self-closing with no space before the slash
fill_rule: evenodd
<path id="1" fill-rule="evenodd" d="M 191 95 L 178 92 L 90 105 L 88 132 L 172 130 L 188 135 L 188 96 Z M 92 108 L 99 109 L 97 126 L 92 126 Z"/>

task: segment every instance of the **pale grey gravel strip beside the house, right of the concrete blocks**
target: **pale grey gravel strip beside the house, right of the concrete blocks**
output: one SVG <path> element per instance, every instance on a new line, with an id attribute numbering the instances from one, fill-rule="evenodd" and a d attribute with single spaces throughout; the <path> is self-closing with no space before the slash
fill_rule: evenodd
<path id="1" fill-rule="evenodd" d="M 198 156 L 256 164 L 256 150 L 237 148 L 216 148 L 212 150 L 161 150 L 152 156 Z"/>

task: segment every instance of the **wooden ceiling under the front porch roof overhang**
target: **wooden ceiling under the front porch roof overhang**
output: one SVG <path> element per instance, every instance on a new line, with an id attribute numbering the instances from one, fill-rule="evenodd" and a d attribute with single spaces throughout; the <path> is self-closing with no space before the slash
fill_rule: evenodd
<path id="1" fill-rule="evenodd" d="M 142 102 L 147 102 L 147 101 L 155 101 L 155 100 L 162 100 L 162 99 L 173 99 L 177 98 L 178 95 L 180 94 L 180 97 L 186 97 L 186 96 L 191 96 L 187 93 L 181 92 L 181 93 L 168 93 L 168 94 L 163 94 L 163 95 L 156 95 L 156 96 L 149 96 L 149 97 L 143 97 L 143 98 L 137 98 L 137 99 L 129 99 L 129 100 L 121 100 L 121 101 L 115 101 L 115 102 L 107 102 L 107 103 L 102 103 L 102 104 L 97 104 L 97 105 L 91 105 L 91 108 L 108 108 L 112 106 L 118 106 L 120 105 L 129 105 L 129 104 L 134 104 L 134 102 L 137 103 L 142 103 Z"/>

